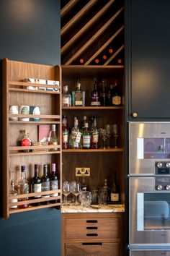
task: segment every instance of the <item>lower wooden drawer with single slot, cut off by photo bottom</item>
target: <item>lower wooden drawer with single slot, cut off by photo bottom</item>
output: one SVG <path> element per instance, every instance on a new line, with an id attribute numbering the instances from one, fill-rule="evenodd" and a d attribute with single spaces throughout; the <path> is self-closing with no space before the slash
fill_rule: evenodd
<path id="1" fill-rule="evenodd" d="M 119 256 L 119 243 L 66 244 L 66 256 Z"/>

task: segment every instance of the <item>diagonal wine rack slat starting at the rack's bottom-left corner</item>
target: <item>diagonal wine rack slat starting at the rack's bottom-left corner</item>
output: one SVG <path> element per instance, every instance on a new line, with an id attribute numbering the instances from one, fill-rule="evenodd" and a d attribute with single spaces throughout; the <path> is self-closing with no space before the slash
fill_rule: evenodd
<path id="1" fill-rule="evenodd" d="M 99 35 L 102 35 L 102 33 L 104 33 L 104 31 L 107 29 L 107 27 L 109 27 L 109 25 L 111 25 L 111 23 L 116 19 L 116 17 L 122 12 L 124 8 L 120 8 L 116 13 L 115 15 L 110 18 L 98 31 L 97 33 L 95 33 L 90 40 L 88 40 L 84 46 L 82 46 L 79 51 L 76 52 L 76 54 L 73 54 L 73 56 L 71 56 L 70 59 L 68 59 L 68 61 L 66 61 L 66 65 L 69 65 L 71 64 L 72 61 L 74 61 L 76 58 L 78 58 L 85 50 L 86 48 L 88 48 L 91 43 L 94 42 L 94 40 L 97 40 L 97 38 L 99 38 Z"/>

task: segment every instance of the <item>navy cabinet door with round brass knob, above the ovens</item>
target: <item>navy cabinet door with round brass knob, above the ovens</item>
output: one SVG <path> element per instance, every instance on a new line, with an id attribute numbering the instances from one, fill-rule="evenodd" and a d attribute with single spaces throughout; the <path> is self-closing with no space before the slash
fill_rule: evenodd
<path id="1" fill-rule="evenodd" d="M 170 1 L 126 4 L 129 119 L 170 119 Z"/>

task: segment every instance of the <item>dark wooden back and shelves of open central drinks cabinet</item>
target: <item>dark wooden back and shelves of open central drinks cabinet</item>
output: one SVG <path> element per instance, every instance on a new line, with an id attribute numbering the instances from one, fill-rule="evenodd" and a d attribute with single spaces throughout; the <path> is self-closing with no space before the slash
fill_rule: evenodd
<path id="1" fill-rule="evenodd" d="M 90 117 L 97 116 L 98 128 L 104 128 L 106 124 L 118 124 L 120 134 L 117 140 L 117 148 L 106 150 L 63 150 L 63 180 L 79 180 L 75 177 L 76 167 L 90 167 L 91 174 L 86 177 L 89 187 L 100 187 L 104 185 L 104 178 L 108 179 L 111 186 L 112 172 L 117 172 L 117 184 L 120 188 L 121 202 L 124 202 L 124 67 L 123 66 L 61 66 L 62 85 L 68 85 L 68 91 L 75 89 L 77 78 L 81 82 L 81 90 L 86 92 L 85 107 L 63 107 L 63 114 L 68 118 L 68 127 L 73 127 L 73 116 L 79 120 L 79 127 L 83 116 L 87 116 L 90 125 Z M 90 93 L 93 90 L 93 79 L 97 77 L 105 80 L 108 85 L 118 80 L 122 92 L 121 106 L 90 106 Z"/>

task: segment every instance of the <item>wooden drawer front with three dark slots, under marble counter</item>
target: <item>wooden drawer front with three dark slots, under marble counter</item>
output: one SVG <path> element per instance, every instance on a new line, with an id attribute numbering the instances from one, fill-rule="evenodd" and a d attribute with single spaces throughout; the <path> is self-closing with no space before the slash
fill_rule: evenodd
<path id="1" fill-rule="evenodd" d="M 68 218 L 65 239 L 119 238 L 119 218 Z"/>

